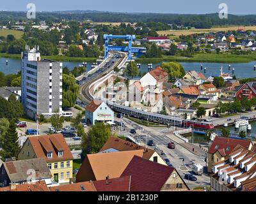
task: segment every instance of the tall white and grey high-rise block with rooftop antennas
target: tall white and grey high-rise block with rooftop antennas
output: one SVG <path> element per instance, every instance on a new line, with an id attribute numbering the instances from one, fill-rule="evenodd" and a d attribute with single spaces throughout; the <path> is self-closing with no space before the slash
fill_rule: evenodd
<path id="1" fill-rule="evenodd" d="M 62 113 L 62 62 L 41 59 L 38 48 L 21 53 L 21 98 L 24 112 L 50 117 Z"/>

